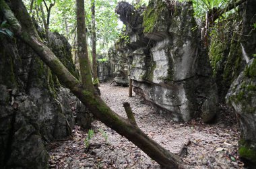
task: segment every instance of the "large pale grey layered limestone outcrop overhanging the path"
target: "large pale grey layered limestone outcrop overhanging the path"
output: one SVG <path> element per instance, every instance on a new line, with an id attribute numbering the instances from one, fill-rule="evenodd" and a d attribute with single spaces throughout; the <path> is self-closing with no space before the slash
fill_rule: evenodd
<path id="1" fill-rule="evenodd" d="M 199 113 L 204 122 L 212 121 L 218 95 L 192 4 L 150 1 L 146 9 L 131 8 L 131 16 L 124 16 L 124 9 L 121 4 L 116 11 L 130 41 L 116 47 L 131 56 L 135 93 L 175 121 L 189 121 Z M 137 27 L 135 21 L 140 21 Z"/>

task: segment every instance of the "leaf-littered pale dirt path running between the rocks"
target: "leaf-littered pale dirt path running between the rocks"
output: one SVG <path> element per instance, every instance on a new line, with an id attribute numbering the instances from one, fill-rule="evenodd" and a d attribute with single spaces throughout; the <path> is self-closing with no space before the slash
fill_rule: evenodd
<path id="1" fill-rule="evenodd" d="M 183 144 L 191 141 L 187 147 L 187 156 L 183 160 L 189 168 L 243 168 L 236 159 L 238 133 L 236 124 L 229 117 L 220 115 L 220 122 L 214 125 L 200 123 L 176 123 L 165 119 L 143 99 L 128 96 L 128 88 L 100 84 L 102 98 L 113 111 L 126 117 L 123 102 L 129 102 L 135 113 L 135 119 L 141 129 L 152 139 L 170 152 L 178 153 Z M 220 113 L 226 109 L 220 109 Z M 228 123 L 231 121 L 231 123 Z M 84 139 L 88 135 L 73 130 L 73 140 L 53 142 L 49 146 L 51 168 L 160 168 L 156 162 L 100 121 L 93 123 L 94 137 L 90 151 L 85 152 Z"/>

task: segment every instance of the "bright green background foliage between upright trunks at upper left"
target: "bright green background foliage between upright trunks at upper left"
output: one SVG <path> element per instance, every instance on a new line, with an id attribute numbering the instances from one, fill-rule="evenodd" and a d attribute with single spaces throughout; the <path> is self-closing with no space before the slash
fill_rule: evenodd
<path id="1" fill-rule="evenodd" d="M 31 1 L 23 1 L 29 10 Z M 42 13 L 38 9 L 40 3 L 42 3 L 42 0 L 34 1 L 34 12 L 30 14 L 34 16 L 36 21 L 38 21 L 40 27 L 43 27 Z M 47 0 L 46 3 L 49 5 L 49 3 L 53 3 L 53 0 Z M 107 48 L 113 46 L 121 32 L 118 27 L 118 16 L 115 13 L 117 3 L 117 0 L 95 0 L 97 53 L 106 52 L 105 50 Z M 85 10 L 88 42 L 90 42 L 92 20 L 90 0 L 85 0 Z M 75 29 L 75 0 L 56 0 L 55 6 L 51 9 L 49 30 L 51 32 L 59 32 L 59 34 L 63 34 L 71 44 L 75 44 Z M 88 43 L 88 45 L 90 46 L 90 43 Z"/>

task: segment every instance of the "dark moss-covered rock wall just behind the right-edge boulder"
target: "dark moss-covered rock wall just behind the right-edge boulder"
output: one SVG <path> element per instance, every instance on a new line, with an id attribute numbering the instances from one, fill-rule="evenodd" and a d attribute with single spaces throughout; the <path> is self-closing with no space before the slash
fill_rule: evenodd
<path id="1" fill-rule="evenodd" d="M 209 56 L 214 72 L 214 78 L 218 87 L 220 101 L 224 102 L 224 97 L 230 88 L 231 83 L 238 77 L 245 66 L 241 48 L 241 36 L 234 33 L 241 30 L 241 16 L 234 15 L 231 21 L 221 21 L 212 27 L 210 37 Z"/>

